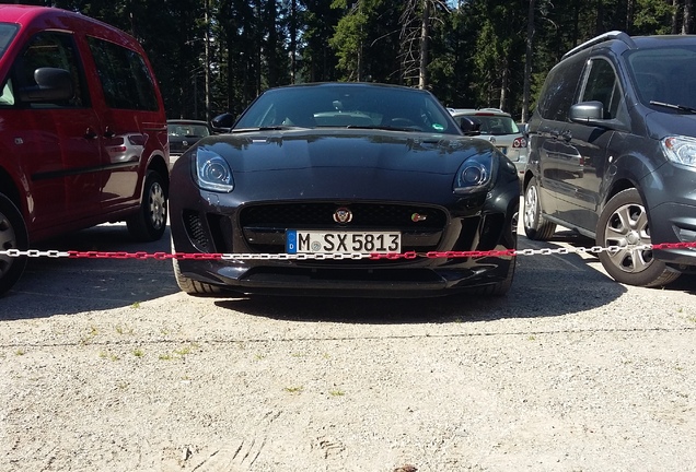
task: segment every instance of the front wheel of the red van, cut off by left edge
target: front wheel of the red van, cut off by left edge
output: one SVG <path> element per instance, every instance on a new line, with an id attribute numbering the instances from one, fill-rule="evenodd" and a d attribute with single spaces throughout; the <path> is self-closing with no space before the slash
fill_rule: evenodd
<path id="1" fill-rule="evenodd" d="M 12 200 L 0 193 L 0 250 L 28 249 L 28 235 L 22 213 Z M 26 256 L 0 256 L 0 295 L 20 280 L 26 267 Z"/>

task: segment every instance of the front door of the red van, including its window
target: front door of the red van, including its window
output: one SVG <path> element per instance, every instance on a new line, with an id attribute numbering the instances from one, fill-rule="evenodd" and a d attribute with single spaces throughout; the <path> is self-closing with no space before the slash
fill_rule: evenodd
<path id="1" fill-rule="evenodd" d="M 3 90 L 12 102 L 3 141 L 25 176 L 30 233 L 44 237 L 97 212 L 102 165 L 100 118 L 90 106 L 81 59 L 71 34 L 46 31 L 30 38 Z M 36 101 L 40 68 L 70 72 L 70 99 Z"/>

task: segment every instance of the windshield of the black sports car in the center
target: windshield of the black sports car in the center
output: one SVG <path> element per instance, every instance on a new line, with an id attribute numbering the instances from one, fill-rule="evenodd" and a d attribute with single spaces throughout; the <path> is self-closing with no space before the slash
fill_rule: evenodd
<path id="1" fill-rule="evenodd" d="M 380 128 L 461 134 L 432 94 L 363 84 L 304 85 L 260 95 L 234 126 Z"/>

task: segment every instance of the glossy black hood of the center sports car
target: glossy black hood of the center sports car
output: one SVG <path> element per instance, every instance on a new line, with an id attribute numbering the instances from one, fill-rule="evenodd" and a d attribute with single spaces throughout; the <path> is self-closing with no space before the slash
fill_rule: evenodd
<path id="1" fill-rule="evenodd" d="M 233 192 L 248 200 L 440 201 L 452 197 L 462 162 L 476 154 L 498 156 L 488 142 L 465 137 L 335 129 L 223 134 L 196 148 L 223 156 Z"/>

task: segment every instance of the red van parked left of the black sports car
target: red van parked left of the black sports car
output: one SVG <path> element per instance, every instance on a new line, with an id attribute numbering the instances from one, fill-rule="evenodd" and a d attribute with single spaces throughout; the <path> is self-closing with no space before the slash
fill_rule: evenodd
<path id="1" fill-rule="evenodd" d="M 0 294 L 26 263 L 9 249 L 117 221 L 161 238 L 167 194 L 166 117 L 138 42 L 78 13 L 0 5 Z"/>

